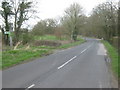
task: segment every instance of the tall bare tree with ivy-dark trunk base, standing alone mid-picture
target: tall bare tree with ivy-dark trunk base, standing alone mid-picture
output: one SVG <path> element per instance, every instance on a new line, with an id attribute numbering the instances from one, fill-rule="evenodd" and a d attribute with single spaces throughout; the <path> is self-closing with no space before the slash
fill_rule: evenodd
<path id="1" fill-rule="evenodd" d="M 65 10 L 65 16 L 62 19 L 62 23 L 66 27 L 66 34 L 69 35 L 71 40 L 77 40 L 81 15 L 82 8 L 77 3 L 73 3 Z"/>

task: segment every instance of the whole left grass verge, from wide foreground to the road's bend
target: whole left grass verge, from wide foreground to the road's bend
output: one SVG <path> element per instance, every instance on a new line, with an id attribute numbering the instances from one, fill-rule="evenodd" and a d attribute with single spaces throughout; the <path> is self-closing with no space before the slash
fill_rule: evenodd
<path id="1" fill-rule="evenodd" d="M 54 36 L 53 36 L 54 37 Z M 53 39 L 52 39 L 53 40 Z M 77 42 L 61 45 L 60 47 L 54 46 L 30 46 L 29 49 L 25 49 L 26 46 L 19 46 L 18 50 L 8 49 L 8 51 L 2 52 L 2 69 L 34 60 L 35 58 L 51 53 L 56 49 L 65 49 L 73 47 L 83 43 L 83 39 L 79 39 Z"/>

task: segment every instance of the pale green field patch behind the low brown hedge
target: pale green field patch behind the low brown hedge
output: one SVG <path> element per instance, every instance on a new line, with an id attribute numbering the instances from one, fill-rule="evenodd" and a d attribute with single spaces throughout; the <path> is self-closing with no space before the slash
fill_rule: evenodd
<path id="1" fill-rule="evenodd" d="M 35 36 L 35 40 L 66 40 L 67 38 L 62 37 L 61 39 L 54 35 Z"/>

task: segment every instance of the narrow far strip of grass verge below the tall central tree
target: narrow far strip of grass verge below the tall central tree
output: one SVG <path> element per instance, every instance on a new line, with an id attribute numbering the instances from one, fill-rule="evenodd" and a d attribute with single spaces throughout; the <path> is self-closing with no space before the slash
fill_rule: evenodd
<path id="1" fill-rule="evenodd" d="M 79 38 L 79 41 L 76 41 L 76 42 L 73 42 L 73 43 L 64 44 L 64 45 L 61 45 L 58 48 L 59 49 L 65 49 L 65 48 L 73 47 L 73 46 L 76 46 L 76 45 L 80 45 L 83 42 L 85 42 L 85 40 Z"/>

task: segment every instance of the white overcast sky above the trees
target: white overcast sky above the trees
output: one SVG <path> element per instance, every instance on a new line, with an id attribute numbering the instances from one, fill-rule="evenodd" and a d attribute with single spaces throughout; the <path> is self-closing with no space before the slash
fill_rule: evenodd
<path id="1" fill-rule="evenodd" d="M 39 17 L 39 19 L 36 18 L 27 21 L 26 23 L 29 24 L 30 26 L 35 25 L 41 19 L 61 17 L 64 13 L 64 10 L 74 2 L 79 3 L 84 9 L 84 13 L 86 15 L 89 15 L 95 6 L 110 0 L 33 0 L 33 1 L 37 2 L 37 4 L 35 5 L 36 10 L 38 12 L 36 13 L 36 16 Z"/>

